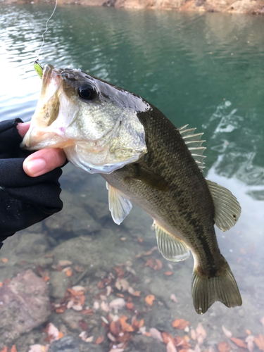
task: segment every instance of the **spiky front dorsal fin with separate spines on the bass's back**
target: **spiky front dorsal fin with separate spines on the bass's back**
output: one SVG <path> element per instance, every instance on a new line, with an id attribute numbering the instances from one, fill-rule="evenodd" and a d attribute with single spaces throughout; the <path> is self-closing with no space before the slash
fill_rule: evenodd
<path id="1" fill-rule="evenodd" d="M 187 144 L 191 155 L 199 166 L 199 169 L 203 172 L 203 169 L 205 168 L 203 158 L 206 158 L 206 156 L 203 156 L 203 151 L 205 151 L 206 147 L 201 145 L 206 141 L 201 141 L 201 136 L 203 133 L 194 134 L 196 128 L 187 129 L 187 126 L 188 125 L 178 128 L 178 131 L 184 139 L 185 144 Z"/>

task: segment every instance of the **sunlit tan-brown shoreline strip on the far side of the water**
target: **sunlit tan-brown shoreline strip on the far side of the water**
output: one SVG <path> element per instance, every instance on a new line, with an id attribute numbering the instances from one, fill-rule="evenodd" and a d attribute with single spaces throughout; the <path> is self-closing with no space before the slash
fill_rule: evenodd
<path id="1" fill-rule="evenodd" d="M 54 0 L 2 0 L 2 4 L 54 4 Z M 58 6 L 106 6 L 115 8 L 153 8 L 196 13 L 247 13 L 264 15 L 264 0 L 58 0 Z"/>

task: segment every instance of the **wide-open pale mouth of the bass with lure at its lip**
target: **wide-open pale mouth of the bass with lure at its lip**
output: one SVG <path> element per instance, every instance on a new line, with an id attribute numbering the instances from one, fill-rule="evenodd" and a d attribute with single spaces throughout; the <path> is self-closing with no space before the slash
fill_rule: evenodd
<path id="1" fill-rule="evenodd" d="M 32 116 L 30 129 L 25 134 L 22 149 L 64 148 L 73 141 L 63 138 L 65 127 L 56 124 L 60 108 L 61 69 L 45 65 L 42 77 L 42 91 Z M 54 123 L 55 122 L 55 123 Z"/>

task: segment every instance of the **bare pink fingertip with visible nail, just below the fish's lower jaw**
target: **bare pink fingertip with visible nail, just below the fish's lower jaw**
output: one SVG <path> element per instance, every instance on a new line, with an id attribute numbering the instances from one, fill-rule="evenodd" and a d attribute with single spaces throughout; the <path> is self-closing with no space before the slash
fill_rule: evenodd
<path id="1" fill-rule="evenodd" d="M 27 156 L 23 169 L 30 177 L 37 177 L 54 170 L 66 161 L 63 149 L 42 149 Z"/>

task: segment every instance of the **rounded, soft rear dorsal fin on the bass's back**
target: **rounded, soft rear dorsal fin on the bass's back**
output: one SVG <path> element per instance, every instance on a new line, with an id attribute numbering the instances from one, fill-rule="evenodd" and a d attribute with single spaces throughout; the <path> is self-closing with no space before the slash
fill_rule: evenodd
<path id="1" fill-rule="evenodd" d="M 215 206 L 215 225 L 221 231 L 230 230 L 239 220 L 241 213 L 239 202 L 225 187 L 210 180 L 206 180 L 206 182 Z"/>

